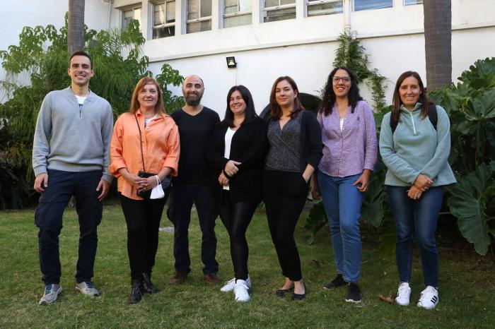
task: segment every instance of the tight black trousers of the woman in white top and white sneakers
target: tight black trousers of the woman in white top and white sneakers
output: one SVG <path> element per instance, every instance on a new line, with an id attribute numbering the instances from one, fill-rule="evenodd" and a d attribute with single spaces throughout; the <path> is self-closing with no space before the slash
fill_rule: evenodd
<path id="1" fill-rule="evenodd" d="M 249 247 L 246 231 L 255 213 L 258 203 L 233 202 L 230 192 L 223 191 L 223 200 L 219 205 L 220 219 L 231 238 L 231 258 L 234 275 L 237 280 L 248 280 Z"/>

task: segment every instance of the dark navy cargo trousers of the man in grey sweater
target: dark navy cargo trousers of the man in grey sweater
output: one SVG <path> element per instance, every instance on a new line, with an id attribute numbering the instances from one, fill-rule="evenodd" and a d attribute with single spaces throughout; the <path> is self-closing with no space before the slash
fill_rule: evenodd
<path id="1" fill-rule="evenodd" d="M 62 172 L 48 170 L 48 186 L 40 196 L 36 208 L 35 224 L 40 228 L 40 268 L 45 285 L 59 284 L 62 275 L 59 258 L 59 234 L 62 215 L 71 196 L 76 198 L 79 220 L 79 253 L 76 265 L 77 282 L 93 277 L 98 246 L 97 227 L 101 222 L 103 205 L 98 201 L 96 187 L 101 170 L 93 172 Z"/>

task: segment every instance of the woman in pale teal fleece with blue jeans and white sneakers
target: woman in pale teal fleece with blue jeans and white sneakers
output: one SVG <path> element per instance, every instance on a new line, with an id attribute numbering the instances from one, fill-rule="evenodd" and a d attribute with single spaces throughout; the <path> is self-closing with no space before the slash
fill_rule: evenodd
<path id="1" fill-rule="evenodd" d="M 429 103 L 418 73 L 402 73 L 395 85 L 392 112 L 383 116 L 380 131 L 380 155 L 388 168 L 385 186 L 397 234 L 397 304 L 409 305 L 414 238 L 426 286 L 417 306 L 433 309 L 438 304 L 435 232 L 443 186 L 455 183 L 449 153 L 448 114 Z"/>

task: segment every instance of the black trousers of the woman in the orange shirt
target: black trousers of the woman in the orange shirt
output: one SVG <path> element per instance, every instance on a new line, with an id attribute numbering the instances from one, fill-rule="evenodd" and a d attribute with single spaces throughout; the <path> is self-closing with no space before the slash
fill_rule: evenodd
<path id="1" fill-rule="evenodd" d="M 127 254 L 132 280 L 150 273 L 158 249 L 158 229 L 166 198 L 134 200 L 120 195 L 122 212 L 127 223 Z"/>

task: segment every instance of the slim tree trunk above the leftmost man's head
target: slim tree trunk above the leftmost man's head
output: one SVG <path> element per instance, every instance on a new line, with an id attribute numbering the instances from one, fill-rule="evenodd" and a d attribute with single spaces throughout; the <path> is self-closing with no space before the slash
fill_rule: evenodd
<path id="1" fill-rule="evenodd" d="M 67 23 L 67 52 L 72 54 L 84 47 L 84 0 L 69 0 Z"/>

